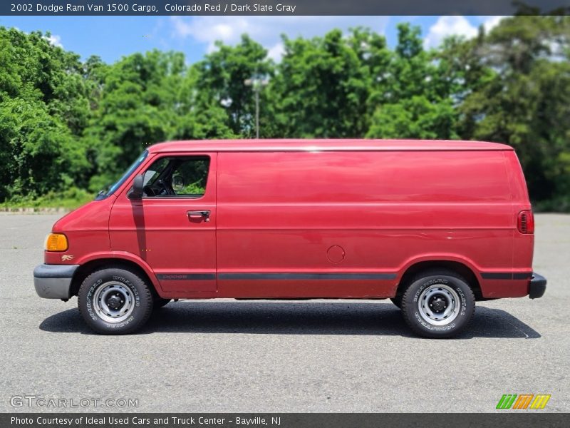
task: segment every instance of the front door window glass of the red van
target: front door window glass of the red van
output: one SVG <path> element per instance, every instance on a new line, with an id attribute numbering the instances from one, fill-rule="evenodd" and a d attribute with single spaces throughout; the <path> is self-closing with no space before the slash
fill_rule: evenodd
<path id="1" fill-rule="evenodd" d="M 202 198 L 209 171 L 208 156 L 157 159 L 145 171 L 145 198 Z"/>

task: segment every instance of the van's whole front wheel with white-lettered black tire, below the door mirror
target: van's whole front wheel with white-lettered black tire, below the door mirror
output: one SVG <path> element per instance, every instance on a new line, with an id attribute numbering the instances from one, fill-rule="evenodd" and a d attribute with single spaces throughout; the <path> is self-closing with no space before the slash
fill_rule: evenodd
<path id="1" fill-rule="evenodd" d="M 147 322 L 152 313 L 152 292 L 137 274 L 112 266 L 86 277 L 79 287 L 78 307 L 95 332 L 125 335 Z"/>

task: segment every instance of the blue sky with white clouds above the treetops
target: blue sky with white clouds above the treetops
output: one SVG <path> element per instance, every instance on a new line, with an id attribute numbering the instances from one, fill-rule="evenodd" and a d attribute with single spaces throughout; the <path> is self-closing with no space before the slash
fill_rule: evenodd
<path id="1" fill-rule="evenodd" d="M 247 33 L 279 61 L 281 34 L 322 36 L 339 28 L 368 26 L 396 43 L 396 25 L 408 21 L 420 26 L 427 47 L 445 36 L 473 37 L 477 28 L 491 29 L 500 16 L 0 16 L 0 26 L 29 32 L 51 32 L 51 42 L 80 54 L 98 55 L 113 62 L 121 56 L 150 49 L 182 51 L 189 63 L 214 49 L 214 41 L 235 44 Z"/>

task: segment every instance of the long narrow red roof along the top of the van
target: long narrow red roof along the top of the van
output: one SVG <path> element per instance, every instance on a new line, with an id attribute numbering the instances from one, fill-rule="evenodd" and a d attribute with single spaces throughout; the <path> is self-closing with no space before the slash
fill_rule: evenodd
<path id="1" fill-rule="evenodd" d="M 512 151 L 500 143 L 458 140 L 271 139 L 190 140 L 157 143 L 150 153 L 175 151 Z"/>

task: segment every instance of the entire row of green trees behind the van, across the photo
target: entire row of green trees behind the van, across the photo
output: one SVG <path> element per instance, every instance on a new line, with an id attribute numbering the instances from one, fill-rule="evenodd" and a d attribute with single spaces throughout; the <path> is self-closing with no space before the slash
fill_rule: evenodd
<path id="1" fill-rule="evenodd" d="M 283 37 L 274 62 L 242 36 L 188 65 L 149 51 L 112 64 L 0 27 L 0 203 L 111 183 L 149 143 L 251 138 L 497 141 L 519 155 L 532 200 L 570 210 L 570 21 L 513 16 L 426 50 L 398 26 Z"/>

